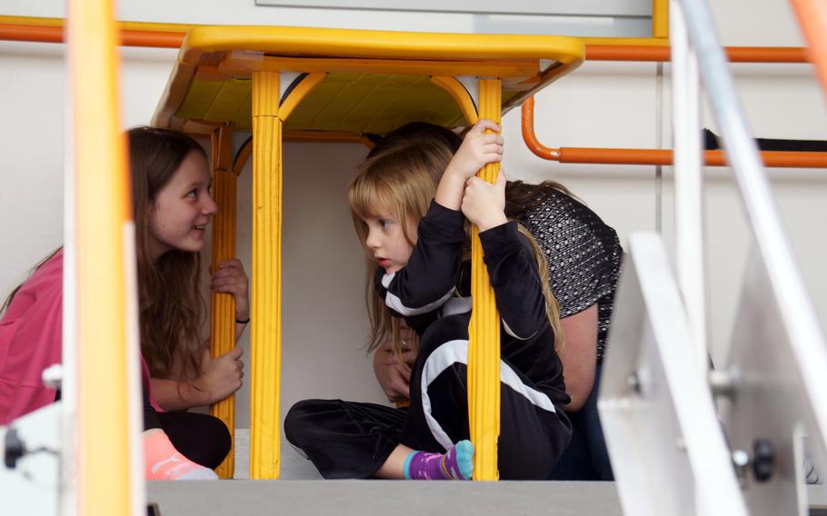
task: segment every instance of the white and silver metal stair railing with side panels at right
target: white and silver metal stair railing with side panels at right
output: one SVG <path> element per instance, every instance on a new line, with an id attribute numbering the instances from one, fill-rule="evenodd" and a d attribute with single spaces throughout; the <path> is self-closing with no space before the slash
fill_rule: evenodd
<path id="1" fill-rule="evenodd" d="M 827 465 L 827 345 L 782 230 L 708 6 L 702 0 L 675 0 L 671 7 L 675 232 L 681 292 L 678 296 L 671 290 L 674 282 L 670 273 L 664 273 L 668 271 L 661 263 L 665 253 L 656 259 L 657 246 L 633 236 L 616 298 L 600 402 L 618 491 L 626 513 L 635 515 L 663 513 L 666 508 L 689 514 L 727 508 L 724 513 L 735 514 L 745 513 L 746 507 L 752 514 L 803 514 L 805 436 L 816 468 Z M 710 376 L 705 373 L 696 64 L 754 242 L 730 361 Z M 642 268 L 641 263 L 649 266 Z M 653 282 L 651 275 L 659 275 L 659 281 Z M 683 299 L 680 311 L 674 310 L 676 297 Z M 669 306 L 673 309 L 664 308 Z M 684 368 L 700 374 L 675 369 L 681 358 Z M 695 362 L 700 367 L 692 367 Z M 683 387 L 678 387 L 679 378 Z M 723 428 L 708 417 L 708 411 L 698 412 L 707 406 L 712 390 L 721 401 Z M 718 456 L 707 457 L 705 465 L 698 462 L 700 452 L 693 448 L 709 445 L 696 437 L 706 432 L 715 448 L 714 436 L 722 430 L 729 449 L 718 449 L 714 452 Z M 655 437 L 657 432 L 667 436 L 665 448 L 663 438 Z M 675 442 L 670 446 L 668 439 Z M 685 447 L 688 460 L 675 454 L 675 447 Z M 637 468 L 648 466 L 648 476 L 628 466 L 626 462 L 634 460 L 627 456 L 629 450 L 639 453 Z M 736 472 L 740 490 L 732 489 Z M 669 478 L 664 480 L 662 474 Z M 711 478 L 720 483 L 712 485 Z"/>

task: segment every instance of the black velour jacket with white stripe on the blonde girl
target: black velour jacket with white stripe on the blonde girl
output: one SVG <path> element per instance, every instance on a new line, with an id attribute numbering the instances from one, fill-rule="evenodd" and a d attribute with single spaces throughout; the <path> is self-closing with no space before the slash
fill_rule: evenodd
<path id="1" fill-rule="evenodd" d="M 381 267 L 376 271 L 375 285 L 385 304 L 420 336 L 437 318 L 471 310 L 463 224 L 462 212 L 432 202 L 405 267 L 390 274 Z M 531 243 L 514 222 L 480 233 L 480 241 L 502 322 L 503 360 L 549 394 L 555 405 L 569 402 Z"/>

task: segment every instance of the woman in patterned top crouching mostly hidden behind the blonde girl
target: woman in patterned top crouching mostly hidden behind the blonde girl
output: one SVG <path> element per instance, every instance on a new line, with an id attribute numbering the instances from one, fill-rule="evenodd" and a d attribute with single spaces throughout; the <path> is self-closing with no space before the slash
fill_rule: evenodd
<path id="1" fill-rule="evenodd" d="M 413 122 L 386 134 L 368 157 L 386 154 L 406 142 L 436 143 L 453 153 L 463 140 L 443 126 Z M 434 184 L 434 192 L 435 188 Z M 509 181 L 505 185 L 505 213 L 524 225 L 543 250 L 548 262 L 543 276 L 560 302 L 560 328 L 554 326 L 554 332 L 566 337 L 565 345 L 558 349 L 562 350 L 566 393 L 572 398 L 565 406 L 572 422 L 572 443 L 549 478 L 612 481 L 597 398 L 623 248 L 611 226 L 555 181 Z M 395 340 L 397 346 L 402 344 L 401 354 L 399 348 L 394 352 L 393 335 L 377 338 L 374 332 L 374 338 L 378 342 L 374 351 L 376 379 L 390 402 L 404 403 L 410 397 L 410 366 L 416 358 L 415 349 L 405 344 L 415 338 L 403 328 Z"/>

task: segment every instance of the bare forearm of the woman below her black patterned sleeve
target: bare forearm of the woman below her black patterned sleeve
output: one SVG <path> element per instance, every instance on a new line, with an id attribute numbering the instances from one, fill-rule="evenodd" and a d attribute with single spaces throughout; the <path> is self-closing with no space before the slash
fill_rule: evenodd
<path id="1" fill-rule="evenodd" d="M 594 371 L 597 366 L 597 304 L 583 312 L 560 320 L 565 334 L 565 346 L 559 352 L 563 362 L 565 391 L 572 402 L 565 406 L 568 412 L 577 412 L 592 393 Z"/>

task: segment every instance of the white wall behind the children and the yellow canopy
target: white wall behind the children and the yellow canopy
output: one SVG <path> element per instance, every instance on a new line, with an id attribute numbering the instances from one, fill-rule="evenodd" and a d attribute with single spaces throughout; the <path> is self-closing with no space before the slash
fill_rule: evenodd
<path id="1" fill-rule="evenodd" d="M 123 19 L 191 23 L 279 23 L 364 26 L 410 30 L 473 31 L 480 17 L 411 13 L 326 12 L 305 9 L 254 10 L 252 2 L 130 2 Z M 726 45 L 801 45 L 784 0 L 713 3 Z M 275 8 L 270 8 L 275 9 Z M 63 15 L 63 3 L 32 5 L 7 0 L 6 15 Z M 749 10 L 751 23 L 743 23 Z M 266 13 L 262 15 L 262 13 Z M 150 17 L 151 16 L 151 17 Z M 365 21 L 368 20 L 368 21 Z M 756 20 L 756 21 L 752 21 Z M 532 25 L 530 21 L 526 22 Z M 376 25 L 374 25 L 375 27 Z M 175 52 L 124 49 L 124 126 L 146 124 L 166 82 Z M 656 65 L 587 63 L 538 95 L 536 124 L 549 146 L 654 147 L 663 122 L 663 144 L 671 144 L 669 81 L 663 113 L 656 103 Z M 765 137 L 827 139 L 824 95 L 810 65 L 733 67 L 752 130 Z M 0 293 L 62 240 L 62 174 L 65 137 L 63 46 L 0 42 Z M 713 126 L 711 116 L 705 119 Z M 504 169 L 510 177 L 554 178 L 572 188 L 613 225 L 622 242 L 634 231 L 657 227 L 654 167 L 561 165 L 543 162 L 525 148 L 519 112 L 504 120 Z M 283 412 L 305 397 L 342 397 L 382 402 L 360 346 L 366 335 L 364 265 L 344 202 L 354 165 L 365 152 L 356 144 L 288 144 L 284 150 L 284 394 Z M 318 177 L 325 171 L 323 184 Z M 663 233 L 673 242 L 671 171 L 664 171 Z M 711 249 L 710 312 L 712 354 L 721 361 L 732 327 L 742 264 L 750 242 L 742 207 L 726 169 L 710 171 L 707 191 Z M 822 321 L 827 321 L 827 243 L 824 199 L 827 174 L 779 170 L 771 173 L 784 223 Z M 249 191 L 249 166 L 240 192 Z M 240 202 L 240 256 L 249 271 L 249 198 Z M 246 338 L 246 336 L 245 336 Z M 246 342 L 246 341 L 245 341 Z M 247 345 L 246 343 L 244 345 Z M 249 356 L 247 357 L 249 361 Z M 247 387 L 239 397 L 239 426 L 246 426 Z"/>

